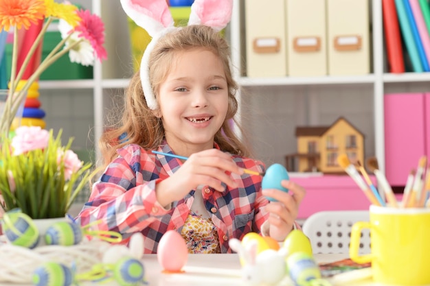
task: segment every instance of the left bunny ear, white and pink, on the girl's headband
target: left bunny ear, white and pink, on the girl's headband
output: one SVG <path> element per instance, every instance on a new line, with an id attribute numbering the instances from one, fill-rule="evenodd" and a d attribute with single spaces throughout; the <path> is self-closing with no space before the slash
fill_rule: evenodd
<path id="1" fill-rule="evenodd" d="M 136 25 L 155 36 L 174 25 L 166 0 L 121 0 L 122 9 Z"/>

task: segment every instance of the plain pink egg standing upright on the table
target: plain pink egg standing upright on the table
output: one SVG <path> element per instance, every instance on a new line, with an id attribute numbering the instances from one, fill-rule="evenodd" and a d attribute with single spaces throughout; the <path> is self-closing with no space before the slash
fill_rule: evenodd
<path id="1" fill-rule="evenodd" d="M 188 248 L 185 240 L 175 230 L 168 230 L 161 237 L 157 248 L 157 259 L 168 272 L 181 272 L 187 263 Z"/>

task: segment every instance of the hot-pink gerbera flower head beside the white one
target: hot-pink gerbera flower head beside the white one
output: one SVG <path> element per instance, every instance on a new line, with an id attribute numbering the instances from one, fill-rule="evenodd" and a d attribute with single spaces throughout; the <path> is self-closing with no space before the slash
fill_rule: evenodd
<path id="1" fill-rule="evenodd" d="M 80 16 L 81 21 L 75 27 L 75 31 L 80 37 L 89 40 L 94 49 L 95 56 L 99 60 L 107 58 L 106 49 L 104 49 L 104 24 L 102 19 L 95 14 L 91 14 L 88 10 L 78 10 L 76 12 Z"/>

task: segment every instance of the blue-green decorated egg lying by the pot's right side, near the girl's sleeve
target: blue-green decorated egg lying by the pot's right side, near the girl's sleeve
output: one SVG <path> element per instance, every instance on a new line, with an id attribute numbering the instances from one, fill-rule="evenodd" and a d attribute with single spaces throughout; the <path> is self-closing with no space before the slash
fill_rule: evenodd
<path id="1" fill-rule="evenodd" d="M 45 233 L 47 245 L 73 246 L 82 241 L 82 228 L 74 222 L 56 222 Z"/>

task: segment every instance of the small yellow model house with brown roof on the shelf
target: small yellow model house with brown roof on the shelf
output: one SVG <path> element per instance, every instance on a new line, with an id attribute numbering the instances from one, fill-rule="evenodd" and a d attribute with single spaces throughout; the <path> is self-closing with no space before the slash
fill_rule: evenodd
<path id="1" fill-rule="evenodd" d="M 364 160 L 364 136 L 345 118 L 331 126 L 305 126 L 295 130 L 297 153 L 285 156 L 288 171 L 343 174 L 338 154 L 348 154 L 352 164 Z"/>

